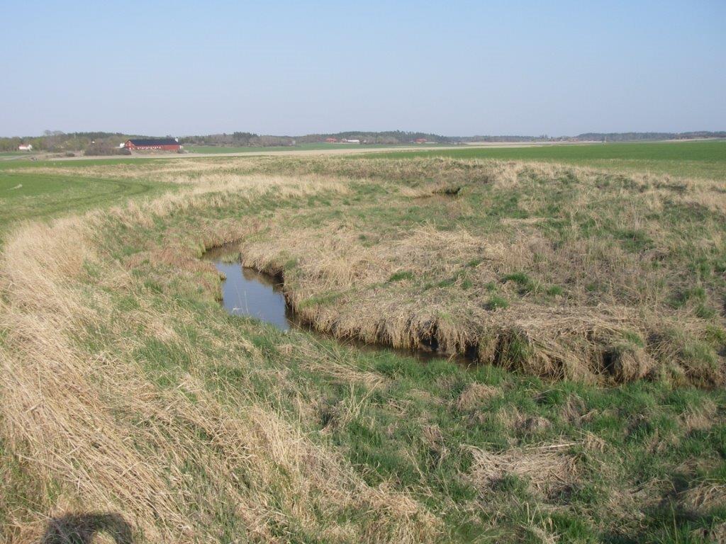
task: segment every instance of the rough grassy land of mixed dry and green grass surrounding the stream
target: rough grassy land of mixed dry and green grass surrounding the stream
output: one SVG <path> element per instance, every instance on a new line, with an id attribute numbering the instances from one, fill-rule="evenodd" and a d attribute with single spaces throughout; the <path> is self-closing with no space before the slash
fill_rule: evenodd
<path id="1" fill-rule="evenodd" d="M 73 168 L 181 189 L 7 240 L 12 540 L 99 509 L 139 541 L 723 535 L 721 182 L 445 159 Z M 197 257 L 235 239 L 321 329 L 483 362 L 229 317 Z"/>

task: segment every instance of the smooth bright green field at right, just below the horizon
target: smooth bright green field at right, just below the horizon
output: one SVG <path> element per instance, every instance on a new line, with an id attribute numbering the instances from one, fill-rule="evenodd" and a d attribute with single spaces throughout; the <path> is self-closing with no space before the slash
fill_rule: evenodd
<path id="1" fill-rule="evenodd" d="M 726 180 L 726 141 L 684 141 L 632 144 L 548 145 L 517 148 L 431 149 L 366 154 L 386 157 L 451 157 L 454 159 L 536 160 L 592 168 L 666 173 L 678 177 Z"/>

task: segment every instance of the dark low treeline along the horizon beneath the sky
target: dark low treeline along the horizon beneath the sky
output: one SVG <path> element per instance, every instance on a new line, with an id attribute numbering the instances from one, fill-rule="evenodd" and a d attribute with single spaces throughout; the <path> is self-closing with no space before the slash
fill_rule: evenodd
<path id="1" fill-rule="evenodd" d="M 166 135 L 168 136 L 168 135 Z M 76 152 L 107 154 L 118 149 L 118 144 L 129 138 L 152 136 L 123 134 L 119 132 L 72 132 L 45 131 L 42 136 L 13 136 L 0 138 L 0 152 L 17 151 L 20 144 L 31 144 L 36 151 Z M 536 142 L 536 141 L 662 141 L 688 140 L 698 138 L 726 138 L 726 131 L 719 132 L 589 132 L 577 136 L 441 136 L 440 134 L 409 131 L 349 131 L 336 133 L 306 134 L 305 136 L 266 136 L 250 132 L 208 134 L 206 136 L 180 136 L 184 145 L 208 145 L 223 147 L 274 147 L 314 144 L 335 138 L 359 140 L 362 144 L 409 144 L 425 139 L 435 144 L 466 144 L 474 141 L 487 142 Z"/>

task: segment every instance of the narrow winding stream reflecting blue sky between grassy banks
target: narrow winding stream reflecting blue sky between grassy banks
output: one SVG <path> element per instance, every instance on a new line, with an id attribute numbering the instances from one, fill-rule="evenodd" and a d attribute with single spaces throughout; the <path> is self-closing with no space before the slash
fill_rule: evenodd
<path id="1" fill-rule="evenodd" d="M 271 323 L 282 331 L 296 329 L 326 336 L 295 319 L 294 313 L 285 302 L 280 281 L 274 276 L 243 265 L 237 255 L 238 252 L 234 250 L 234 247 L 222 246 L 208 250 L 202 257 L 204 260 L 211 261 L 217 271 L 224 274 L 225 279 L 221 286 L 221 304 L 229 314 L 256 318 L 265 323 Z M 230 260 L 230 256 L 234 256 L 234 260 Z M 366 344 L 352 339 L 336 339 L 336 341 L 365 351 L 389 351 L 421 361 L 446 358 L 446 355 L 427 350 L 404 350 L 391 346 Z M 473 362 L 463 355 L 456 355 L 453 359 L 465 366 Z"/>

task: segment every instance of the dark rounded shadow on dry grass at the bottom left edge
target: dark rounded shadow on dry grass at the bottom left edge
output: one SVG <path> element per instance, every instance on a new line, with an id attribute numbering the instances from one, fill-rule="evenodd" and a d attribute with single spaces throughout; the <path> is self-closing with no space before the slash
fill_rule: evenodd
<path id="1" fill-rule="evenodd" d="M 132 544 L 131 525 L 119 514 L 66 514 L 51 519 L 41 544 L 91 544 L 94 536 L 105 533 L 116 544 Z"/>

